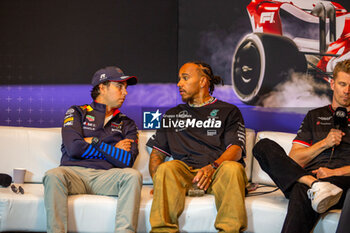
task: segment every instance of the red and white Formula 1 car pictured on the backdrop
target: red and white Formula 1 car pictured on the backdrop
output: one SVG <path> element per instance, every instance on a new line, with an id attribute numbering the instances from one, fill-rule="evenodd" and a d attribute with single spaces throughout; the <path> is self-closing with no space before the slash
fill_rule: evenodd
<path id="1" fill-rule="evenodd" d="M 238 98 L 259 105 L 291 72 L 330 82 L 340 60 L 350 59 L 350 13 L 317 0 L 252 0 L 253 33 L 236 47 L 232 86 Z"/>

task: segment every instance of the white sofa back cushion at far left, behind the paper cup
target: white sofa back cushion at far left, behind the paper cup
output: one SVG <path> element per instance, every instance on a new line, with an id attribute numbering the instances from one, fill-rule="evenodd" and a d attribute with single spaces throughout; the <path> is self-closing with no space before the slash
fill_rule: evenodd
<path id="1" fill-rule="evenodd" d="M 42 182 L 45 172 L 61 160 L 60 128 L 0 126 L 0 172 L 13 177 L 13 168 L 27 169 L 25 182 Z"/>

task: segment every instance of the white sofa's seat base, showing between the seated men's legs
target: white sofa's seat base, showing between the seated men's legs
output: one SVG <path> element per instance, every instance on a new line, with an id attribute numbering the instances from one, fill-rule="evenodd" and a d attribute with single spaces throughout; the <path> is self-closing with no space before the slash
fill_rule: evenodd
<path id="1" fill-rule="evenodd" d="M 44 187 L 24 184 L 25 194 L 15 194 L 10 187 L 0 189 L 0 230 L 45 232 Z M 144 185 L 141 193 L 138 232 L 149 232 L 152 185 Z M 269 191 L 274 187 L 258 189 Z M 70 232 L 114 232 L 117 197 L 71 195 L 68 198 L 68 230 Z M 282 229 L 288 200 L 281 191 L 246 198 L 248 229 L 246 232 L 278 233 Z M 214 228 L 216 208 L 213 195 L 187 197 L 179 218 L 181 232 L 217 232 Z M 340 210 L 324 214 L 315 232 L 335 232 Z M 40 221 L 39 221 L 40 220 Z M 266 224 L 268 222 L 268 224 Z"/>

